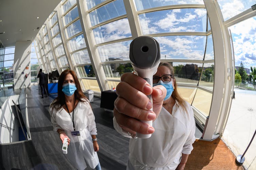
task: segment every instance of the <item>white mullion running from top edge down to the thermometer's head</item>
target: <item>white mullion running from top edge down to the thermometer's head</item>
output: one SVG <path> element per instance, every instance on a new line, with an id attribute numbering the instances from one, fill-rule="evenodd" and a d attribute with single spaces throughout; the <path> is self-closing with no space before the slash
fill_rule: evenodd
<path id="1" fill-rule="evenodd" d="M 125 10 L 129 21 L 132 39 L 142 36 L 142 30 L 136 13 L 136 7 L 133 0 L 124 0 Z"/>

